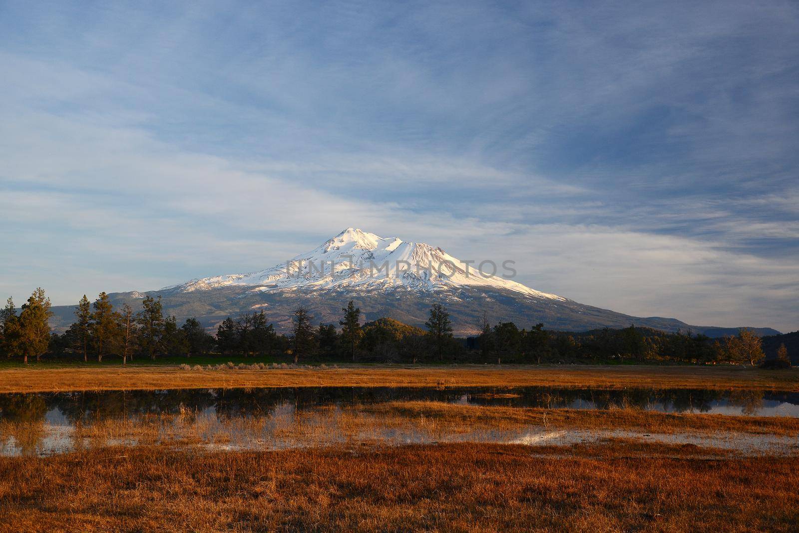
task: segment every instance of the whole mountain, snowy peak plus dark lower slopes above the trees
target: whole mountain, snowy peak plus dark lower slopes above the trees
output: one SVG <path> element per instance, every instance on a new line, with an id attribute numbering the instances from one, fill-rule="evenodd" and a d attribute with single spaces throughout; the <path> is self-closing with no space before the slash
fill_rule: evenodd
<path id="1" fill-rule="evenodd" d="M 585 331 L 649 326 L 666 331 L 694 331 L 711 337 L 734 334 L 734 328 L 689 326 L 676 318 L 638 318 L 574 302 L 503 278 L 497 265 L 461 261 L 438 247 L 383 238 L 348 227 L 306 254 L 248 274 L 193 279 L 161 290 L 109 294 L 114 306 L 138 309 L 145 296 L 160 296 L 166 313 L 179 322 L 198 318 L 213 331 L 227 317 L 264 311 L 277 330 L 288 332 L 297 306 L 313 322 L 337 324 L 342 307 L 353 300 L 364 320 L 395 318 L 423 326 L 433 303 L 450 312 L 455 334 L 476 334 L 483 319 L 491 324 L 515 322 L 530 327 L 542 322 L 550 330 Z M 66 329 L 74 306 L 54 306 L 54 327 Z M 760 334 L 778 333 L 762 328 Z"/>

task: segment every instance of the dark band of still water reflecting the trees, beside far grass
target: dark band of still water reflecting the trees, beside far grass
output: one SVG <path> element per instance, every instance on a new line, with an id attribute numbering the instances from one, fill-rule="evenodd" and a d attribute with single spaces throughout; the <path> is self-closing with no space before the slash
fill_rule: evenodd
<path id="1" fill-rule="evenodd" d="M 547 409 L 636 408 L 665 413 L 799 417 L 799 393 L 761 390 L 300 387 L 0 394 L 0 421 L 77 424 L 185 411 L 213 413 L 217 417 L 250 417 L 268 413 L 277 405 L 308 409 L 408 400 Z"/>

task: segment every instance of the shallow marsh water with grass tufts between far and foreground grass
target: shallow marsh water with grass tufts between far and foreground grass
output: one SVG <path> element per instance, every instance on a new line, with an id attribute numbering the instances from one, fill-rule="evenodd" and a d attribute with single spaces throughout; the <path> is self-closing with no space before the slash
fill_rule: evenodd
<path id="1" fill-rule="evenodd" d="M 785 455 L 797 450 L 795 437 L 775 435 L 646 434 L 492 424 L 490 420 L 466 427 L 451 420 L 370 409 L 402 401 L 799 417 L 799 393 L 752 390 L 304 387 L 0 394 L 0 455 L 50 455 L 136 444 L 265 450 L 439 442 L 566 446 L 607 438 L 695 444 L 743 453 Z"/>

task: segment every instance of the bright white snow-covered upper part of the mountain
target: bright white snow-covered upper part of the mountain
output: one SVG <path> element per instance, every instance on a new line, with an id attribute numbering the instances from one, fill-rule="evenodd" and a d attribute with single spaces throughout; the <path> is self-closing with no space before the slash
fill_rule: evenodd
<path id="1" fill-rule="evenodd" d="M 503 278 L 502 267 L 495 263 L 485 263 L 482 268 L 480 270 L 479 264 L 464 263 L 426 243 L 406 243 L 396 237 L 379 237 L 348 227 L 312 251 L 266 270 L 193 279 L 164 290 L 193 292 L 240 286 L 263 292 L 292 288 L 373 292 L 399 287 L 419 291 L 471 287 L 566 301 L 566 298 Z"/>

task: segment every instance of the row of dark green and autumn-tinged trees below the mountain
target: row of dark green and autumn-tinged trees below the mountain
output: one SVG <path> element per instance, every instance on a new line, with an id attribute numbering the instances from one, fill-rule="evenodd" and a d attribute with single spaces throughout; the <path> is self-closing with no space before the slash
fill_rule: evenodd
<path id="1" fill-rule="evenodd" d="M 379 318 L 361 324 L 361 311 L 354 302 L 341 310 L 336 324 L 312 326 L 314 318 L 302 306 L 292 315 L 288 335 L 278 333 L 263 311 L 225 318 L 215 335 L 197 318 L 180 326 L 174 316 L 164 314 L 161 297 L 146 296 L 141 310 L 128 304 L 114 309 L 108 294 L 94 302 L 85 295 L 78 302 L 74 323 L 63 333 L 51 333 L 50 298 L 41 288 L 34 290 L 19 313 L 11 298 L 0 311 L 0 353 L 6 357 L 36 360 L 56 357 L 103 361 L 118 357 L 123 365 L 134 357 L 156 360 L 162 356 L 219 354 L 244 357 L 288 356 L 294 362 L 316 359 L 412 362 L 461 361 L 483 363 L 556 363 L 678 361 L 695 364 L 757 365 L 764 359 L 761 339 L 750 330 L 712 340 L 704 335 L 669 334 L 630 326 L 622 330 L 565 333 L 546 330 L 542 323 L 519 329 L 513 322 L 491 325 L 483 317 L 475 337 L 455 338 L 447 309 L 434 303 L 424 328 Z M 790 365 L 785 345 L 777 361 Z"/>

